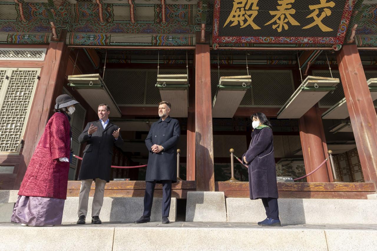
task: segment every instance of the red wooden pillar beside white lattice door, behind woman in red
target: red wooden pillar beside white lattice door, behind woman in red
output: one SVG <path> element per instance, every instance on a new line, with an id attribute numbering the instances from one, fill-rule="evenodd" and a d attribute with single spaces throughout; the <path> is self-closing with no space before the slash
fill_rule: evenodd
<path id="1" fill-rule="evenodd" d="M 68 58 L 69 51 L 65 43 L 51 42 L 49 44 L 25 130 L 25 144 L 22 151 L 23 161 L 18 167 L 14 184 L 14 189 L 16 190 L 20 188 L 31 156 L 43 134 L 49 114 L 55 106 L 55 99 L 63 90 Z"/>

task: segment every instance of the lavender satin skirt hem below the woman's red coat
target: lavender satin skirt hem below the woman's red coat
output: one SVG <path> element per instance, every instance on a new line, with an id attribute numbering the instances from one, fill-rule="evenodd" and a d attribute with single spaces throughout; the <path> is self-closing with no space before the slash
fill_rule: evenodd
<path id="1" fill-rule="evenodd" d="M 30 226 L 60 225 L 63 209 L 63 199 L 18 196 L 11 221 Z"/>

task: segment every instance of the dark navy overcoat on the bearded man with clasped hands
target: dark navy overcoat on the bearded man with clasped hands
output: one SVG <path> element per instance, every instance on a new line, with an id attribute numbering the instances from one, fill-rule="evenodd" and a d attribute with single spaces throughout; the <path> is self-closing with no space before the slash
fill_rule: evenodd
<path id="1" fill-rule="evenodd" d="M 176 119 L 168 116 L 164 121 L 160 118 L 150 127 L 145 144 L 149 150 L 146 181 L 177 181 L 177 144 L 181 129 Z M 161 145 L 165 150 L 154 153 L 152 145 Z"/>

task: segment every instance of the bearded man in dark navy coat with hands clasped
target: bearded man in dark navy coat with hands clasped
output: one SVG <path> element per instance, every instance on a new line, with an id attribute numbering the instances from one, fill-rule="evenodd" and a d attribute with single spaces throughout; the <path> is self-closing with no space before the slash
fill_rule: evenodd
<path id="1" fill-rule="evenodd" d="M 181 129 L 176 119 L 170 118 L 170 103 L 162 101 L 158 106 L 159 121 L 150 127 L 145 144 L 149 150 L 144 213 L 135 223 L 150 221 L 153 192 L 156 183 L 162 183 L 162 223 L 169 223 L 172 182 L 177 182 L 176 151 Z"/>

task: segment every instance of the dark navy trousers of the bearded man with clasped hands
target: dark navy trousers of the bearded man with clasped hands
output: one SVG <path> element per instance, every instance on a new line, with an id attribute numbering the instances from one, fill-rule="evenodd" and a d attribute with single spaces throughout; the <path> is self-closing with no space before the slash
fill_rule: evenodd
<path id="1" fill-rule="evenodd" d="M 169 216 L 170 201 L 172 200 L 172 181 L 164 180 L 162 183 L 162 216 Z M 153 193 L 156 181 L 146 181 L 144 194 L 144 213 L 143 216 L 150 216 L 153 204 Z"/>

